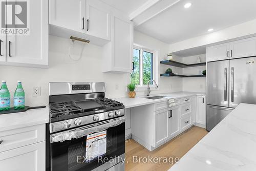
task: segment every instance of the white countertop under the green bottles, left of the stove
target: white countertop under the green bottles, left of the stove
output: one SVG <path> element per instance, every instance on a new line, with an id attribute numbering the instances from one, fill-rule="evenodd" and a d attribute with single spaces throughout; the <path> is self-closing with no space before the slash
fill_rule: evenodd
<path id="1" fill-rule="evenodd" d="M 49 122 L 49 108 L 0 115 L 0 132 Z"/>

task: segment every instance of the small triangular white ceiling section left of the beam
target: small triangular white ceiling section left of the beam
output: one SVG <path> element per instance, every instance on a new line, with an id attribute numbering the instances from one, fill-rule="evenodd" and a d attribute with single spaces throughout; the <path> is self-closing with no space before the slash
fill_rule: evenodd
<path id="1" fill-rule="evenodd" d="M 120 11 L 123 11 L 127 14 L 131 14 L 148 0 L 100 0 L 105 4 L 108 4 Z"/>

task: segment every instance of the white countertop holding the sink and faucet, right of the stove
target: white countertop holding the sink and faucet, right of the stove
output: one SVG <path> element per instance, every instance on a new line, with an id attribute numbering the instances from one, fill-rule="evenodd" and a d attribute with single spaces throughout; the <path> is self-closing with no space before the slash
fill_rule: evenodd
<path id="1" fill-rule="evenodd" d="M 135 106 L 140 105 L 147 105 L 147 104 L 153 104 L 161 101 L 167 101 L 170 98 L 178 99 L 178 98 L 184 98 L 188 96 L 193 95 L 205 95 L 205 93 L 202 92 L 173 92 L 173 93 L 161 93 L 161 94 L 153 94 L 150 96 L 137 96 L 135 98 L 129 98 L 129 97 L 121 97 L 121 98 L 113 98 L 116 101 L 120 101 L 124 104 L 125 108 L 133 108 Z M 152 96 L 166 96 L 162 99 L 145 99 L 144 97 L 152 97 Z"/>

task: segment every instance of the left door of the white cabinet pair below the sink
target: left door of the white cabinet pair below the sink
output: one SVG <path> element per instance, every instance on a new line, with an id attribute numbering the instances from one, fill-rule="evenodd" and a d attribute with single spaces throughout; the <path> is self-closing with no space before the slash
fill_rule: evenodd
<path id="1" fill-rule="evenodd" d="M 155 145 L 168 139 L 169 109 L 155 112 Z"/>

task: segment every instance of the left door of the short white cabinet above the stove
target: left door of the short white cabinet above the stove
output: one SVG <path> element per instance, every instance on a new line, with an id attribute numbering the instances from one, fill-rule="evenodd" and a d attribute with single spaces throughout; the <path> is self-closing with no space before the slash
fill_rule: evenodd
<path id="1" fill-rule="evenodd" d="M 84 33 L 85 0 L 50 0 L 49 24 Z"/>

